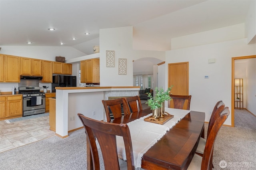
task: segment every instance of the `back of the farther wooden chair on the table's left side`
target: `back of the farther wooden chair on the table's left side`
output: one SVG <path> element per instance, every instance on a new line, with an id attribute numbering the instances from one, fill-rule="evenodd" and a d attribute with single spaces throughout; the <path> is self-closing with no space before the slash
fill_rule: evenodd
<path id="1" fill-rule="evenodd" d="M 137 111 L 142 111 L 142 105 L 139 96 L 125 97 L 124 100 L 127 102 L 128 112 L 134 113 Z"/>

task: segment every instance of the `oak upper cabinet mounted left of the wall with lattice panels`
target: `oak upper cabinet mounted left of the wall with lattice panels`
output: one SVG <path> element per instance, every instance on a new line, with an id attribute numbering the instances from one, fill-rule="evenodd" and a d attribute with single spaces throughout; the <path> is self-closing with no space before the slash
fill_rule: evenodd
<path id="1" fill-rule="evenodd" d="M 87 59 L 80 62 L 81 83 L 100 83 L 100 59 Z"/>

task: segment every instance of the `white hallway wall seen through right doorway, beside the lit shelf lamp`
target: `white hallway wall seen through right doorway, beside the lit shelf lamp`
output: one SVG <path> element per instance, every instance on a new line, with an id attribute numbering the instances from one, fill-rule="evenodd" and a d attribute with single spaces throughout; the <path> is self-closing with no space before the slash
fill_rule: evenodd
<path id="1" fill-rule="evenodd" d="M 256 59 L 246 63 L 247 103 L 246 109 L 256 115 Z"/>

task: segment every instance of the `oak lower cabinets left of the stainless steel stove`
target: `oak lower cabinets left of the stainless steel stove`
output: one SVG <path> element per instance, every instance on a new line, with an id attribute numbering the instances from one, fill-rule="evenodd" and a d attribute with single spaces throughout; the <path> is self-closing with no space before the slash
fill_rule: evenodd
<path id="1" fill-rule="evenodd" d="M 22 117 L 22 95 L 0 97 L 0 120 Z"/>

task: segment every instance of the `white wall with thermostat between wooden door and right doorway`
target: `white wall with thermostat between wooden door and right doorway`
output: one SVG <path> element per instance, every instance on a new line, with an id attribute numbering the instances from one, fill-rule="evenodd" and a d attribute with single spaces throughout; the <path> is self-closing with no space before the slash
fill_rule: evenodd
<path id="1" fill-rule="evenodd" d="M 209 121 L 217 101 L 222 100 L 231 110 L 231 58 L 255 54 L 255 44 L 247 45 L 247 39 L 166 51 L 165 73 L 168 63 L 189 62 L 190 110 L 205 112 Z M 211 58 L 216 63 L 208 63 Z M 204 75 L 210 78 L 204 79 Z M 167 87 L 168 74 L 165 79 Z M 231 114 L 225 125 L 231 125 Z"/>

